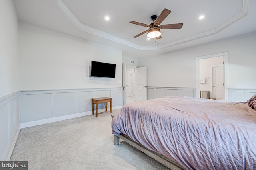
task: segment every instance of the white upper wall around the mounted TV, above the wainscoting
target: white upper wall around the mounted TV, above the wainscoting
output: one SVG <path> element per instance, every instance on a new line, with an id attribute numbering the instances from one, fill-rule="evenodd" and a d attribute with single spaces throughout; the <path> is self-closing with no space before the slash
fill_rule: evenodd
<path id="1" fill-rule="evenodd" d="M 120 50 L 21 22 L 18 35 L 21 90 L 122 86 Z M 116 78 L 89 77 L 91 60 L 116 64 Z"/>

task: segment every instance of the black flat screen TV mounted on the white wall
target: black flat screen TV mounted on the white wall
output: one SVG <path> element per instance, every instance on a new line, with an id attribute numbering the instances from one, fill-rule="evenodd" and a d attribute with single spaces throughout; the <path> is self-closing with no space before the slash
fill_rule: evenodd
<path id="1" fill-rule="evenodd" d="M 115 78 L 116 64 L 91 62 L 91 77 Z"/>

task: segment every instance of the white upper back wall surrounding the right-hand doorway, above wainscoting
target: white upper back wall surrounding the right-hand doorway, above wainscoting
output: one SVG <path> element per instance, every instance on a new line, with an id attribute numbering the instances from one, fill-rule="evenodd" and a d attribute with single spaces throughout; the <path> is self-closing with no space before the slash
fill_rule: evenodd
<path id="1" fill-rule="evenodd" d="M 256 88 L 256 32 L 138 59 L 147 66 L 148 86 L 196 87 L 196 57 L 229 53 L 228 88 Z"/>

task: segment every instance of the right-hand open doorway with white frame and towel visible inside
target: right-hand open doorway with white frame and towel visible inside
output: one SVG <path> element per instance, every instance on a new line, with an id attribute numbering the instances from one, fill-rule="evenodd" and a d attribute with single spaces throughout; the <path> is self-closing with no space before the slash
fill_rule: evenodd
<path id="1" fill-rule="evenodd" d="M 228 100 L 228 52 L 196 57 L 196 97 Z"/>

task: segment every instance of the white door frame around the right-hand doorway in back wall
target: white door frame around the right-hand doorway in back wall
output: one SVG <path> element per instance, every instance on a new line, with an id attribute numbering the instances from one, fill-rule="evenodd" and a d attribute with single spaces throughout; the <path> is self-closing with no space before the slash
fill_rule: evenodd
<path id="1" fill-rule="evenodd" d="M 200 98 L 200 60 L 220 56 L 224 57 L 224 100 L 228 100 L 228 52 L 196 57 L 196 98 Z"/>

